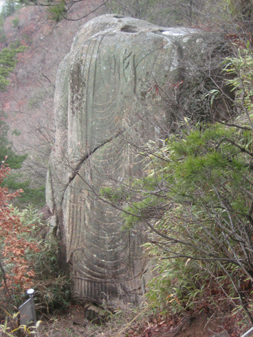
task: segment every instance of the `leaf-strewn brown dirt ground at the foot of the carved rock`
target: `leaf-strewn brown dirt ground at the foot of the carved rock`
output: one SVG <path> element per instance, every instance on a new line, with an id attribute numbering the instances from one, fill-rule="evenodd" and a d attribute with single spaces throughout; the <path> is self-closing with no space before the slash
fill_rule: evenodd
<path id="1" fill-rule="evenodd" d="M 227 332 L 227 331 L 228 332 Z M 230 330 L 230 331 L 229 331 Z M 184 318 L 177 325 L 169 321 L 157 323 L 130 323 L 123 318 L 108 320 L 104 325 L 94 325 L 83 320 L 83 325 L 73 323 L 73 315 L 68 314 L 41 322 L 39 337 L 239 337 L 238 331 L 232 331 L 221 321 L 214 322 L 212 317 L 202 313 L 195 317 Z"/>

